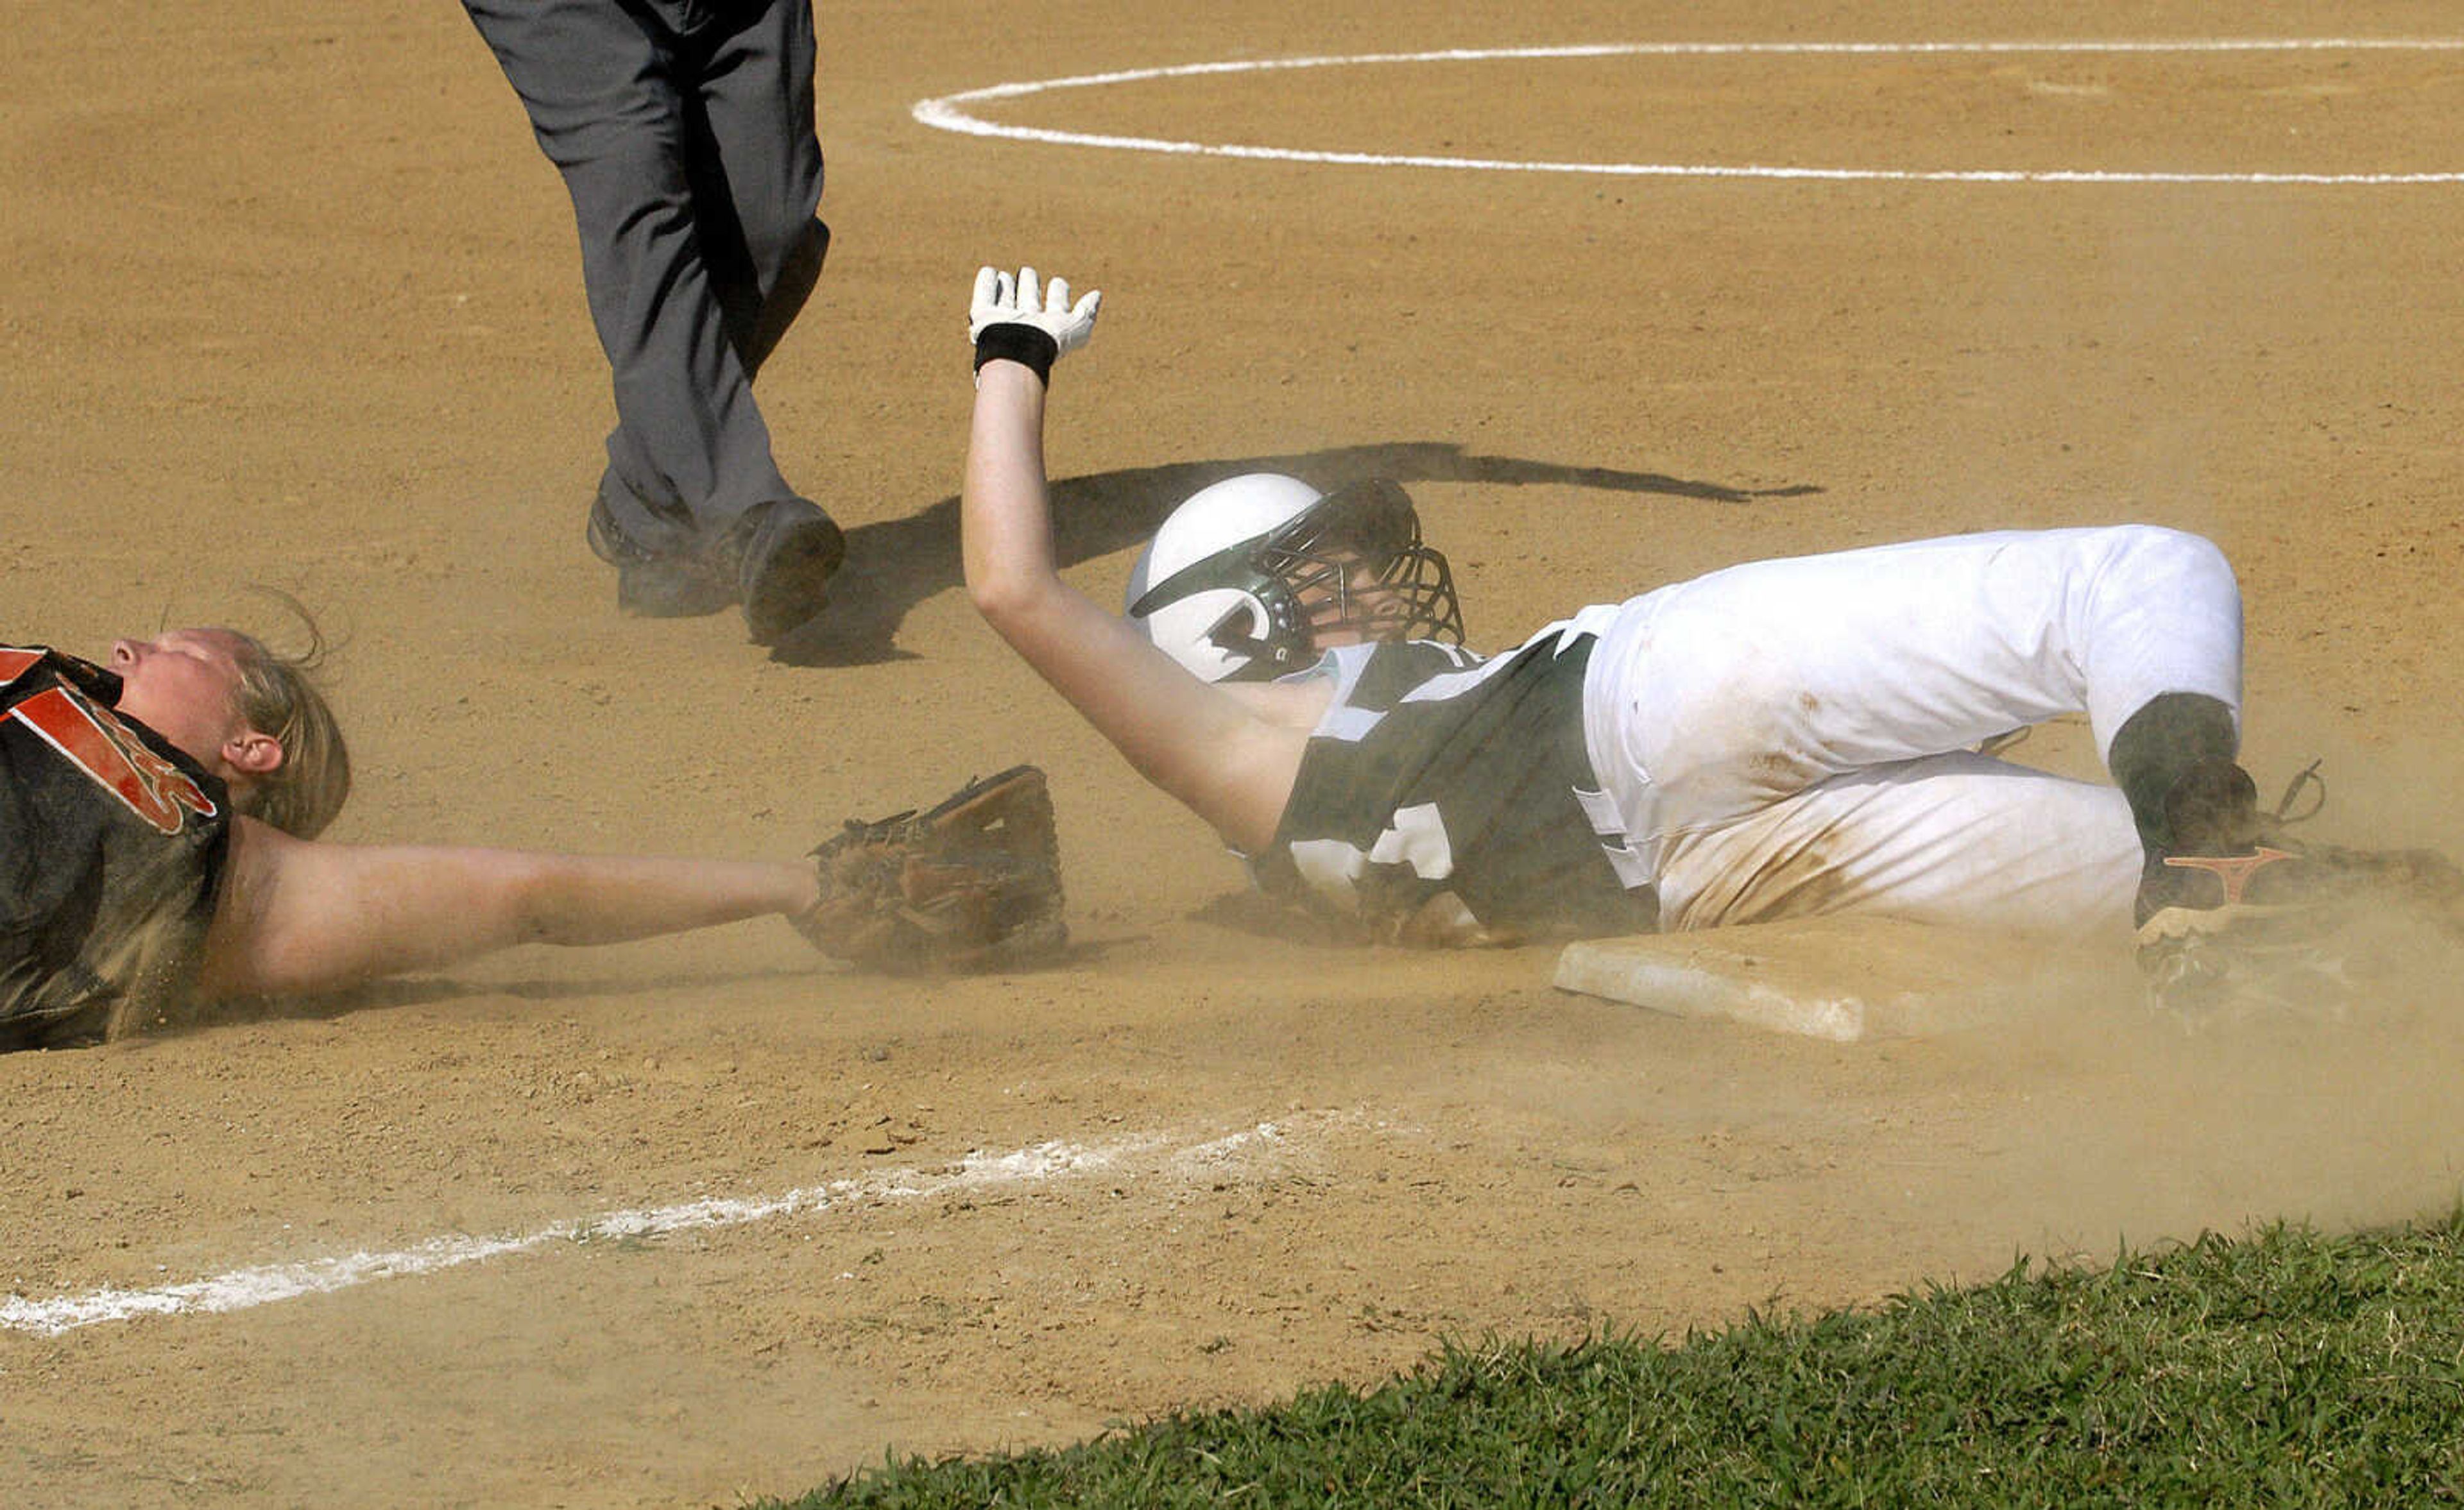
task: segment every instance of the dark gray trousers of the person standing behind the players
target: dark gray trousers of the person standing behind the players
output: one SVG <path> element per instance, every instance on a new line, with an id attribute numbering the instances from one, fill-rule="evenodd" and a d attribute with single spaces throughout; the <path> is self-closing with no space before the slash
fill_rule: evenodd
<path id="1" fill-rule="evenodd" d="M 811 0 L 463 0 L 564 175 L 616 382 L 601 498 L 690 552 L 793 498 L 752 379 L 828 229 Z"/>

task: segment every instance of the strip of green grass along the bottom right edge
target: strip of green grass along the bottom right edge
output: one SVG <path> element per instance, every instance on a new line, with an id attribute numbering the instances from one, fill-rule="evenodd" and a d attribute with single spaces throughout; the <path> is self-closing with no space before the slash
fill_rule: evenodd
<path id="1" fill-rule="evenodd" d="M 1449 1345 L 823 1505 L 2454 1505 L 2464 1212 L 1752 1315 L 1683 1345 Z M 776 1503 L 774 1503 L 776 1505 Z"/>

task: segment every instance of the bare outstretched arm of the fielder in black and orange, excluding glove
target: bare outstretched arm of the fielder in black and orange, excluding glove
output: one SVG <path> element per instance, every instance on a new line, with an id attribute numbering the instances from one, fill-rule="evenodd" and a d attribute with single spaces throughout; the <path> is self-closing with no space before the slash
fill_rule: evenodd
<path id="1" fill-rule="evenodd" d="M 621 943 L 813 906 L 811 865 L 325 845 L 232 825 L 207 995 L 291 995 L 515 943 Z"/>

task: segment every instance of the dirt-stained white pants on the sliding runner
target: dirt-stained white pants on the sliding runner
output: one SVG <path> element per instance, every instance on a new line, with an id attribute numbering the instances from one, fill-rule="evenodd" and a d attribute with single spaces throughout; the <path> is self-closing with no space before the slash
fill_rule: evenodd
<path id="1" fill-rule="evenodd" d="M 2240 709 L 2215 544 L 2146 525 L 1730 567 L 1609 611 L 1584 741 L 1663 929 L 1882 911 L 2122 931 L 2141 852 L 2107 783 L 1974 754 L 2158 692 Z"/>

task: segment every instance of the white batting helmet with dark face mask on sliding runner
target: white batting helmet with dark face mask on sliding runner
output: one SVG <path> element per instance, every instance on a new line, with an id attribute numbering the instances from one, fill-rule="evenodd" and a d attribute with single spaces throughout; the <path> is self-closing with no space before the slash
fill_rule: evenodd
<path id="1" fill-rule="evenodd" d="M 1210 682 L 1271 680 L 1331 645 L 1464 638 L 1446 557 L 1382 478 L 1318 495 L 1254 473 L 1193 495 L 1138 559 L 1129 618 Z"/>

